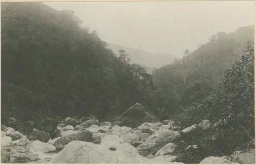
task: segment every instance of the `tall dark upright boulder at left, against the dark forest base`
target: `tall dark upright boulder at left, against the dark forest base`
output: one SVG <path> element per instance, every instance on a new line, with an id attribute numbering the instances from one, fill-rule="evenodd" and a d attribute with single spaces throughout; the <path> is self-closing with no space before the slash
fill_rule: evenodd
<path id="1" fill-rule="evenodd" d="M 38 124 L 38 130 L 48 132 L 51 138 L 55 137 L 55 129 L 58 125 L 58 121 L 54 119 L 44 119 Z M 48 141 L 48 140 L 47 140 Z"/>

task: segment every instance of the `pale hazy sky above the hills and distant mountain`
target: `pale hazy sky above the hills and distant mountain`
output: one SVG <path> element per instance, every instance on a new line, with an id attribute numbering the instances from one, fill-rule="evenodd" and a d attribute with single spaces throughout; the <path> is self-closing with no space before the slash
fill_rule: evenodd
<path id="1" fill-rule="evenodd" d="M 59 2 L 109 43 L 182 56 L 219 31 L 253 25 L 253 1 Z"/>

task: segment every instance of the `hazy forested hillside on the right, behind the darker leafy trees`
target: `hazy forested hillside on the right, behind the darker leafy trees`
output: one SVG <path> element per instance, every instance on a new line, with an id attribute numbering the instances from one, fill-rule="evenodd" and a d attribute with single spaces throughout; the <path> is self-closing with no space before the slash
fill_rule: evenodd
<path id="1" fill-rule="evenodd" d="M 225 70 L 240 59 L 247 41 L 253 41 L 253 34 L 252 26 L 232 33 L 219 32 L 181 60 L 156 69 L 153 82 L 163 116 L 180 113 L 182 107 L 209 96 L 223 78 Z"/>

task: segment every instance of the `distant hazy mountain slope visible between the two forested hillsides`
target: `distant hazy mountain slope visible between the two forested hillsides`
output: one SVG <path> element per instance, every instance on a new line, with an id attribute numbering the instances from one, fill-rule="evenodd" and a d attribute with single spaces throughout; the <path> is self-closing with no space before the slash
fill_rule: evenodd
<path id="1" fill-rule="evenodd" d="M 124 46 L 108 43 L 108 47 L 113 50 L 113 52 L 118 55 L 119 50 L 124 50 L 131 59 L 131 63 L 140 64 L 149 70 L 153 70 L 153 68 L 159 68 L 166 64 L 170 64 L 177 59 L 175 55 L 167 55 L 167 54 L 158 54 L 151 53 L 139 49 L 134 48 L 126 48 Z"/>

